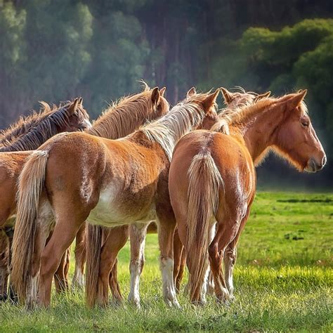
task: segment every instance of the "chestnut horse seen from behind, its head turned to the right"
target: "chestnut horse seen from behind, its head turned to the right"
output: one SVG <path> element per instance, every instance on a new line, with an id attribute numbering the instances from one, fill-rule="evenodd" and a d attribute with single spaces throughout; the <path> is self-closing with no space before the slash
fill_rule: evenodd
<path id="1" fill-rule="evenodd" d="M 228 303 L 234 298 L 237 242 L 256 192 L 255 166 L 268 151 L 278 153 L 299 171 L 316 172 L 325 165 L 325 152 L 303 102 L 305 95 L 306 91 L 299 91 L 263 99 L 222 115 L 221 124 L 228 122 L 230 135 L 219 133 L 216 124 L 212 131 L 189 133 L 176 145 L 169 192 L 185 246 L 193 303 L 205 302 L 208 261 L 216 299 Z"/>

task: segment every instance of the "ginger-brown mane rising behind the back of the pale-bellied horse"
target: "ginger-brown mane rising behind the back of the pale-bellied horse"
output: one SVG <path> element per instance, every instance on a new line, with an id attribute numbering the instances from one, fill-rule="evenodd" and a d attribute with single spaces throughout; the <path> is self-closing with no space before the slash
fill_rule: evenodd
<path id="1" fill-rule="evenodd" d="M 143 92 L 123 97 L 107 107 L 86 133 L 108 139 L 129 135 L 153 118 L 151 97 L 152 90 L 145 84 Z"/>

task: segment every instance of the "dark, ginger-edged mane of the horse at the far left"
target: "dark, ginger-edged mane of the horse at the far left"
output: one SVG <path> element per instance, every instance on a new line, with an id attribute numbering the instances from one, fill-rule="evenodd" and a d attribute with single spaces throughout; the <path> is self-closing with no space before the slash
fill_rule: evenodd
<path id="1" fill-rule="evenodd" d="M 45 141 L 59 133 L 59 129 L 69 122 L 67 107 L 72 102 L 50 107 L 40 102 L 42 109 L 28 117 L 20 117 L 15 124 L 0 135 L 0 151 L 11 152 L 21 150 L 35 150 Z M 86 111 L 79 107 L 79 117 L 88 117 Z"/>

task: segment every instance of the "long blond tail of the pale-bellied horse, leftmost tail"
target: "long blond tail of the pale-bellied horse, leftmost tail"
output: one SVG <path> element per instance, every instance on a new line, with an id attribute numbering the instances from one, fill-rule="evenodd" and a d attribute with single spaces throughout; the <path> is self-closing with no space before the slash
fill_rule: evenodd
<path id="1" fill-rule="evenodd" d="M 11 280 L 20 299 L 25 300 L 33 267 L 37 211 L 44 186 L 47 150 L 36 150 L 27 159 L 18 179 L 18 210 L 13 237 Z"/>

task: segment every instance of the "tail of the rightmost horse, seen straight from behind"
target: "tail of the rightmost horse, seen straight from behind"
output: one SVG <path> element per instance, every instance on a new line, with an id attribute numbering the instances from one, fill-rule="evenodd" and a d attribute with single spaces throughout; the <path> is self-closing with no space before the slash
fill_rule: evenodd
<path id="1" fill-rule="evenodd" d="M 210 152 L 192 159 L 188 169 L 188 240 L 190 299 L 201 299 L 202 286 L 208 266 L 209 228 L 218 206 L 218 192 L 223 179 Z"/>

